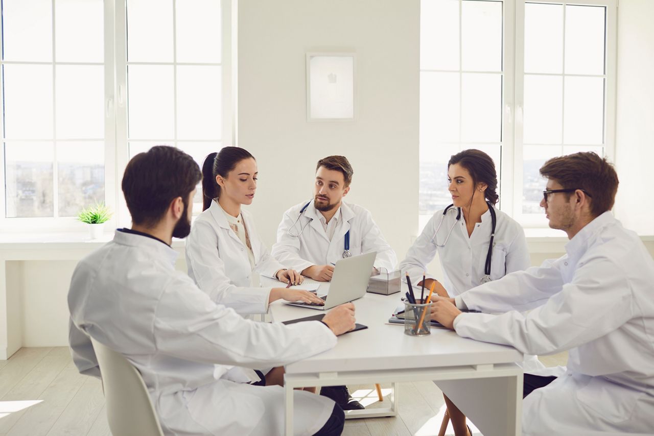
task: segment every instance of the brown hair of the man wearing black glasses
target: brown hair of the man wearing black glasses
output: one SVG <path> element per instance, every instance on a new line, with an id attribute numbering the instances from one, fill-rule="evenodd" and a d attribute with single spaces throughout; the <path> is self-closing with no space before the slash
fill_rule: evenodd
<path id="1" fill-rule="evenodd" d="M 617 192 L 617 173 L 606 158 L 594 152 L 579 152 L 551 158 L 540 167 L 540 174 L 564 189 L 579 189 L 591 197 L 591 214 L 600 216 L 611 210 Z M 568 193 L 570 199 L 572 193 Z"/>

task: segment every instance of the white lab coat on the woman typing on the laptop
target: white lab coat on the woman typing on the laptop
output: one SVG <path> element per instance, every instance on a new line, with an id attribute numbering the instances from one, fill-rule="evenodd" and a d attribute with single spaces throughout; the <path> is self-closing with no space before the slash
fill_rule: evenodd
<path id="1" fill-rule="evenodd" d="M 220 205 L 212 201 L 209 209 L 196 218 L 186 238 L 188 275 L 218 304 L 240 314 L 266 313 L 271 288 L 252 286 L 252 273 L 275 278 L 284 266 L 270 256 L 256 232 L 252 215 L 241 210 L 241 216 L 252 245 L 254 271 L 247 246 L 230 228 Z M 280 282 L 279 286 L 286 284 Z"/>

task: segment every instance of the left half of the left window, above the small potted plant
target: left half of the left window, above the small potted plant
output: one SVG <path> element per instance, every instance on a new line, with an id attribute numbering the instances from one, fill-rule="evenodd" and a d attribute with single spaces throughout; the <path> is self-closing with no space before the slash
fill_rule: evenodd
<path id="1" fill-rule="evenodd" d="M 103 2 L 3 0 L 2 14 L 2 215 L 74 216 L 105 199 Z"/>

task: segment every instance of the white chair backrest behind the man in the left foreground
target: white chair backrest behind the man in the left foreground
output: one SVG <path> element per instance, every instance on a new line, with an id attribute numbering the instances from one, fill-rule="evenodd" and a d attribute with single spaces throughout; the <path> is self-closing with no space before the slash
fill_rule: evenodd
<path id="1" fill-rule="evenodd" d="M 148 389 L 139 371 L 122 354 L 91 338 L 114 436 L 163 436 Z"/>

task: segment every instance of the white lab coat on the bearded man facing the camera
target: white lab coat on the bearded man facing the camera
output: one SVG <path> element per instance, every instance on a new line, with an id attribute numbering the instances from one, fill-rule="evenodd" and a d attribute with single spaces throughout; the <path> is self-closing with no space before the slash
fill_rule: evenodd
<path id="1" fill-rule="evenodd" d="M 330 241 L 320 222 L 322 214 L 313 206 L 313 200 L 300 216 L 300 210 L 306 204 L 307 202 L 303 201 L 284 212 L 277 227 L 277 243 L 272 249 L 277 260 L 300 272 L 312 265 L 336 263 L 343 259 L 345 233 L 350 231 L 350 252 L 353 256 L 374 251 L 377 252 L 375 267 L 388 271 L 395 269 L 398 258 L 368 210 L 342 202 L 341 218 Z M 294 235 L 300 233 L 303 227 L 300 237 L 288 234 L 291 227 L 291 233 Z"/>

